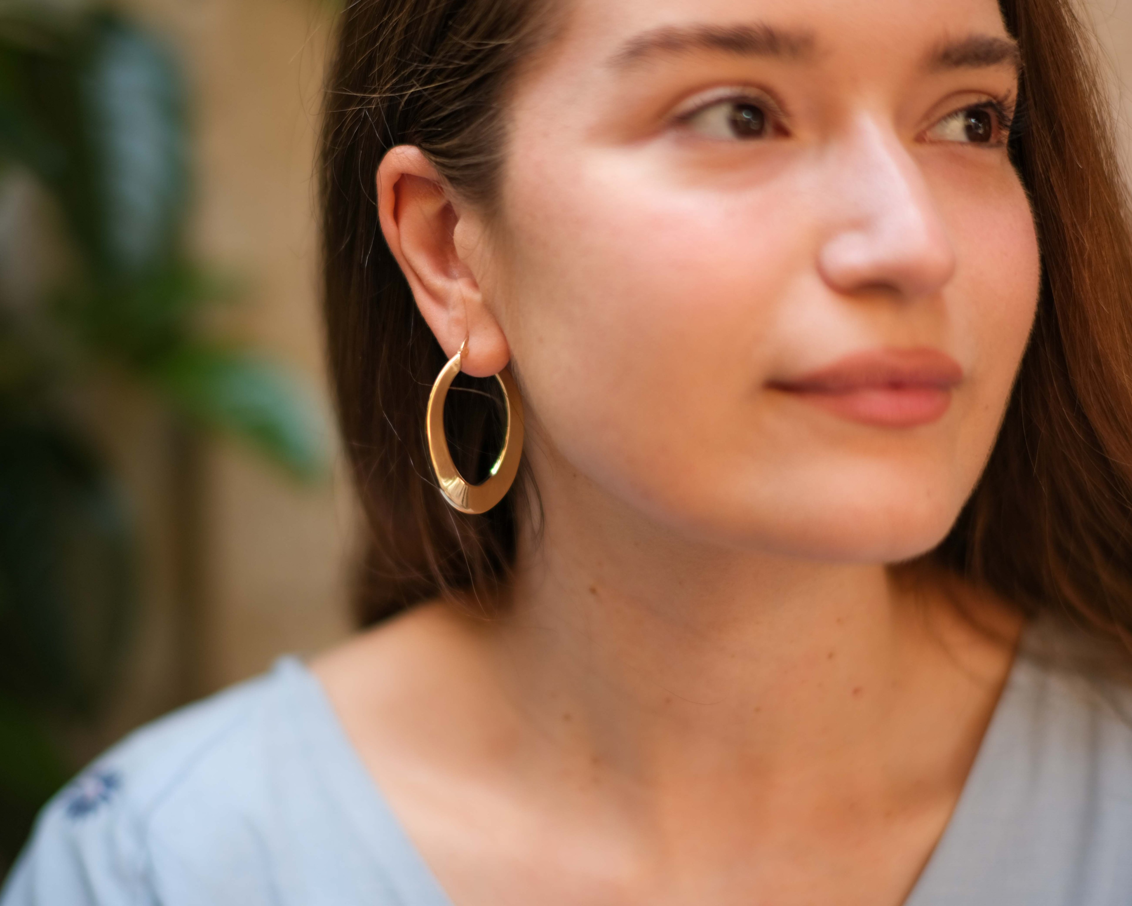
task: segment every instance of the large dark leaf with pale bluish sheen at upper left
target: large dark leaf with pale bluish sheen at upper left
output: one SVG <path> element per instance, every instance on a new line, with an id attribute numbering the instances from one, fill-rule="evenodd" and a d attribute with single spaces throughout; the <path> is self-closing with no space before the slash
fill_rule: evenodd
<path id="1" fill-rule="evenodd" d="M 50 17 L 42 42 L 0 15 L 0 151 L 59 202 L 92 276 L 121 288 L 165 267 L 188 202 L 187 101 L 165 46 L 113 14 Z"/>

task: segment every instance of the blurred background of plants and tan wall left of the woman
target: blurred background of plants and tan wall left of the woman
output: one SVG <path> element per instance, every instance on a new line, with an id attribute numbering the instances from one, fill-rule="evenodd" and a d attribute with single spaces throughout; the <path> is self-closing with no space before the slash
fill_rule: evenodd
<path id="1" fill-rule="evenodd" d="M 334 8 L 0 7 L 0 878 L 129 729 L 349 631 L 314 219 Z"/>

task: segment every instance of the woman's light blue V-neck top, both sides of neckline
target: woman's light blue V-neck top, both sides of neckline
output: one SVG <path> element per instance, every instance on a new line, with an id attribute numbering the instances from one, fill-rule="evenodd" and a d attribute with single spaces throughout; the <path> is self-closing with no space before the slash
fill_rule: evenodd
<path id="1" fill-rule="evenodd" d="M 1132 698 L 1113 689 L 1015 659 L 908 906 L 1132 904 Z M 44 810 L 0 906 L 91 904 L 452 906 L 293 658 L 134 734 Z"/>

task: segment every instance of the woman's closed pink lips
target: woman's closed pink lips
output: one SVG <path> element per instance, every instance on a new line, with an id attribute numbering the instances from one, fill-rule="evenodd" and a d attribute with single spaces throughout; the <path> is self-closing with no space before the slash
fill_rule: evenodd
<path id="1" fill-rule="evenodd" d="M 769 386 L 850 421 L 912 428 L 943 418 L 962 379 L 959 362 L 925 347 L 855 352 Z"/>

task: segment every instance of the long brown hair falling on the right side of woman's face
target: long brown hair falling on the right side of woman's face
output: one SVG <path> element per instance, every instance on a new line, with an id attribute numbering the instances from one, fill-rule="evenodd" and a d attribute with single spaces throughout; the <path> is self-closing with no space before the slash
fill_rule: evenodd
<path id="1" fill-rule="evenodd" d="M 944 562 L 1031 615 L 1132 641 L 1132 231 L 1091 35 L 1062 0 L 1002 0 L 1022 50 L 1015 166 L 1038 314 Z"/>

